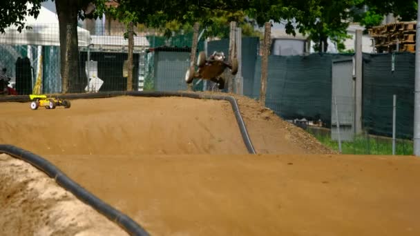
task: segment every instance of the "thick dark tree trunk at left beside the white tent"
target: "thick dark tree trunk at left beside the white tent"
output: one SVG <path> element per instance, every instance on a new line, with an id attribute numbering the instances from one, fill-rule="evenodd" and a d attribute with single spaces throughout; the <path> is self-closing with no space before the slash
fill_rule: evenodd
<path id="1" fill-rule="evenodd" d="M 79 48 L 77 37 L 77 12 L 79 7 L 77 6 L 77 3 L 74 3 L 71 0 L 61 0 L 55 1 L 55 8 L 57 8 L 59 20 L 61 56 L 60 72 L 61 78 L 64 78 L 61 84 L 62 92 L 82 92 L 86 84 L 82 83 L 79 70 Z M 67 41 L 68 26 L 70 27 L 70 42 Z M 67 46 L 70 46 L 68 50 Z"/>

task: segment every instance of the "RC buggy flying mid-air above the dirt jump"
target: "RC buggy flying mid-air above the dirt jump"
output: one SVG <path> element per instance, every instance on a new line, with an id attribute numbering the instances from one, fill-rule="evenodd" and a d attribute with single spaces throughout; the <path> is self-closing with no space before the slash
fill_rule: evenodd
<path id="1" fill-rule="evenodd" d="M 195 66 L 191 66 L 185 73 L 185 81 L 192 83 L 193 79 L 208 79 L 218 83 L 219 89 L 225 88 L 225 78 L 221 77 L 222 73 L 229 68 L 232 75 L 238 72 L 238 59 L 233 58 L 232 61 L 225 60 L 223 52 L 213 52 L 209 58 L 206 53 L 200 52 L 197 59 L 198 70 L 195 71 Z"/>

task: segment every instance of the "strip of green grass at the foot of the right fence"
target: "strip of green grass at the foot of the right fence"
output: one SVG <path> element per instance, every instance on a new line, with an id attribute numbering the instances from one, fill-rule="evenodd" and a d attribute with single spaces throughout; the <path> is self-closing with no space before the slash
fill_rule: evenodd
<path id="1" fill-rule="evenodd" d="M 316 139 L 321 144 L 338 151 L 338 141 L 331 139 L 330 135 L 315 134 Z M 412 155 L 412 141 L 405 139 L 397 139 L 395 142 L 396 155 Z M 354 138 L 354 141 L 343 141 L 341 143 L 341 153 L 356 155 L 392 155 L 392 139 L 383 137 L 372 137 L 370 135 L 361 135 Z"/>

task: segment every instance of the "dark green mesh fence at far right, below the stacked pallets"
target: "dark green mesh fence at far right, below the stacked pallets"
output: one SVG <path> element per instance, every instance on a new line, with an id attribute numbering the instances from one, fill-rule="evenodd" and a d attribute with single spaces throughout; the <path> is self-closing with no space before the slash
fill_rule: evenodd
<path id="1" fill-rule="evenodd" d="M 411 139 L 414 53 L 363 55 L 363 127 L 392 136 L 392 96 L 397 95 L 397 137 Z"/>

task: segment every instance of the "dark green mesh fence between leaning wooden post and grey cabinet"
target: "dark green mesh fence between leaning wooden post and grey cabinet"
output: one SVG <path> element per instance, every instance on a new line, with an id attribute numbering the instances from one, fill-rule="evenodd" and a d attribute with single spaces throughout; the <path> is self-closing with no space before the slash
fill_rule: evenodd
<path id="1" fill-rule="evenodd" d="M 266 105 L 284 119 L 331 123 L 332 60 L 350 55 L 269 56 Z M 260 96 L 261 60 L 256 61 L 253 97 Z"/>

